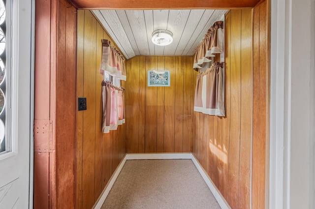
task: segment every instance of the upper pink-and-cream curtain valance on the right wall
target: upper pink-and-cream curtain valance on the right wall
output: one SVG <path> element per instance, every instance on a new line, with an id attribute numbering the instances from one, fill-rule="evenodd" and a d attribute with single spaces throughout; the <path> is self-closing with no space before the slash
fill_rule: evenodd
<path id="1" fill-rule="evenodd" d="M 217 21 L 205 34 L 196 47 L 193 69 L 198 71 L 204 62 L 210 62 L 214 54 L 223 53 L 224 30 L 223 21 Z"/>

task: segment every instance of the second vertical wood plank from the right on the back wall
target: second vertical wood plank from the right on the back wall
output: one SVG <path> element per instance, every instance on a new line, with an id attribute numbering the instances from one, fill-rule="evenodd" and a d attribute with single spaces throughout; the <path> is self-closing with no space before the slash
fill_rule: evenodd
<path id="1" fill-rule="evenodd" d="M 175 152 L 183 152 L 184 57 L 176 57 L 175 68 Z"/>

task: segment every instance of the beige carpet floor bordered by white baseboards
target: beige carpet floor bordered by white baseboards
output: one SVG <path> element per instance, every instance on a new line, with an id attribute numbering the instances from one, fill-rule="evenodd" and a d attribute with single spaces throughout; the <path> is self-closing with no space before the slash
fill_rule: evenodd
<path id="1" fill-rule="evenodd" d="M 221 209 L 191 160 L 127 160 L 102 209 Z"/>

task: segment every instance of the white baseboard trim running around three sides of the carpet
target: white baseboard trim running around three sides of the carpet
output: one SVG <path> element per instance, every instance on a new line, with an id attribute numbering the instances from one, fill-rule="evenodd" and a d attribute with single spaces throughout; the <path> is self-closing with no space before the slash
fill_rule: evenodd
<path id="1" fill-rule="evenodd" d="M 121 172 L 122 168 L 124 167 L 126 160 L 165 160 L 165 159 L 191 159 L 194 165 L 196 166 L 197 170 L 199 171 L 200 175 L 208 185 L 210 191 L 213 193 L 214 197 L 218 201 L 221 209 L 231 209 L 225 199 L 222 197 L 218 188 L 214 185 L 212 180 L 206 174 L 204 169 L 199 164 L 198 160 L 194 157 L 192 153 L 128 153 L 125 155 L 124 159 L 121 161 L 117 169 L 115 170 L 111 179 L 109 179 L 107 185 L 105 186 L 103 192 L 97 199 L 93 209 L 100 209 L 109 194 L 114 182 L 116 181 L 119 173 Z"/>

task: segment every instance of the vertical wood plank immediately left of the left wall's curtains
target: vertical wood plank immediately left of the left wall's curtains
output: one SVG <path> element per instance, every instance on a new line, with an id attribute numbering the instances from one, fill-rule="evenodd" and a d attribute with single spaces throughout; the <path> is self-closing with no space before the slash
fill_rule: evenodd
<path id="1" fill-rule="evenodd" d="M 96 22 L 96 68 L 95 68 L 95 201 L 101 194 L 103 187 L 102 182 L 102 116 L 103 116 L 103 101 L 102 101 L 102 81 L 103 75 L 99 72 L 99 67 L 102 60 L 102 40 L 103 28 Z"/>

